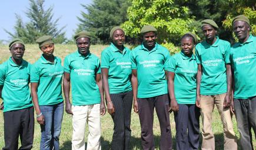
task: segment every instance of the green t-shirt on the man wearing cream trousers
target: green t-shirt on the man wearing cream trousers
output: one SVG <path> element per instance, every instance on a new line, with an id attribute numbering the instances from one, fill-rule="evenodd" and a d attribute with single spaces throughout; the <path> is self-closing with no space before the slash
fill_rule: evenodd
<path id="1" fill-rule="evenodd" d="M 74 52 L 66 56 L 64 71 L 70 74 L 72 105 L 92 105 L 101 102 L 96 74 L 101 74 L 99 58 L 89 53 L 86 57 Z"/>

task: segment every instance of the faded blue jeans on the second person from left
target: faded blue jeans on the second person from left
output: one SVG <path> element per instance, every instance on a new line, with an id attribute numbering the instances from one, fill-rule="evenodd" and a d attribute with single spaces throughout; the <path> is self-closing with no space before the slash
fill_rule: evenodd
<path id="1" fill-rule="evenodd" d="M 64 111 L 64 103 L 39 106 L 44 115 L 45 124 L 41 125 L 41 150 L 59 149 L 59 135 L 61 134 L 61 122 Z"/>

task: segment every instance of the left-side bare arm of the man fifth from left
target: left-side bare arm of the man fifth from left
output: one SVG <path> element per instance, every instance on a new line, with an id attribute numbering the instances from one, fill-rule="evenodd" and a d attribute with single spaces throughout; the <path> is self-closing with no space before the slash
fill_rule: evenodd
<path id="1" fill-rule="evenodd" d="M 132 69 L 132 94 L 134 95 L 134 112 L 138 114 L 138 102 L 137 102 L 137 94 L 138 94 L 138 78 L 137 78 L 137 69 Z"/>

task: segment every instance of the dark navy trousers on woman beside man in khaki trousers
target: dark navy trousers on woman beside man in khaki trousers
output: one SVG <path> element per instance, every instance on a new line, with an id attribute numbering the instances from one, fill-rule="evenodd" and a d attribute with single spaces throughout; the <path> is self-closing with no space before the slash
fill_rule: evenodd
<path id="1" fill-rule="evenodd" d="M 178 105 L 179 111 L 174 113 L 176 126 L 176 149 L 198 149 L 200 136 L 200 109 L 195 105 Z"/>

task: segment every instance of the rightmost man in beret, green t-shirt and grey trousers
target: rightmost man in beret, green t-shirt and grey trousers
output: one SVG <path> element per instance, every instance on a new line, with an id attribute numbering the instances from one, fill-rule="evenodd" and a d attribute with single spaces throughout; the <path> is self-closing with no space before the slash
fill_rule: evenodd
<path id="1" fill-rule="evenodd" d="M 251 128 L 256 135 L 256 37 L 250 34 L 250 21 L 236 16 L 232 29 L 239 42 L 231 47 L 234 71 L 234 111 L 242 149 L 253 149 Z"/>

